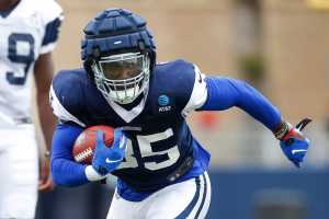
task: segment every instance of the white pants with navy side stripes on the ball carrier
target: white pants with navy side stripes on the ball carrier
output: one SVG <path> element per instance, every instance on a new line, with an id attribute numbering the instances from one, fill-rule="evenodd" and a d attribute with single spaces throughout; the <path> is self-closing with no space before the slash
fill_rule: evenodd
<path id="1" fill-rule="evenodd" d="M 207 173 L 167 186 L 141 201 L 128 201 L 115 192 L 106 219 L 205 218 L 211 204 Z"/>

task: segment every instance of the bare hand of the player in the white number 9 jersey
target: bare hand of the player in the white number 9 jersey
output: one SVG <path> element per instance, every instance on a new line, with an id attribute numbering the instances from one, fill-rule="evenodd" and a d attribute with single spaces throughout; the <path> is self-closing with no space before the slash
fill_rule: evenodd
<path id="1" fill-rule="evenodd" d="M 50 159 L 49 154 L 45 154 L 45 158 L 41 161 L 41 172 L 38 180 L 38 191 L 39 192 L 49 192 L 54 189 L 55 185 L 50 175 Z"/>

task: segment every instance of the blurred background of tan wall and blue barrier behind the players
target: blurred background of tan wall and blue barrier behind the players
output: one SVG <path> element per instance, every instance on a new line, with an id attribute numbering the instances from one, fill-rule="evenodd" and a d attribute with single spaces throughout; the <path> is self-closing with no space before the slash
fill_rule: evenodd
<path id="1" fill-rule="evenodd" d="M 195 113 L 194 136 L 212 153 L 207 218 L 322 219 L 329 215 L 329 0 L 59 0 L 56 70 L 80 68 L 82 28 L 106 8 L 148 21 L 158 61 L 183 58 L 207 74 L 242 79 L 285 119 L 314 122 L 303 169 L 246 113 Z M 42 194 L 42 219 L 105 218 L 112 188 L 90 184 Z M 170 204 L 169 206 L 170 207 Z"/>

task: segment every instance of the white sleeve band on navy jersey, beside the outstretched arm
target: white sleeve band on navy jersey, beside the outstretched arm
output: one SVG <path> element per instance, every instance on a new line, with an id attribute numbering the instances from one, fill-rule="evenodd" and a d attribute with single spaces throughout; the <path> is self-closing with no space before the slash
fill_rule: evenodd
<path id="1" fill-rule="evenodd" d="M 192 92 L 190 99 L 182 111 L 183 116 L 188 116 L 192 111 L 201 107 L 207 100 L 207 89 L 205 83 L 205 76 L 201 73 L 196 65 L 193 65 L 193 71 L 191 73 L 193 78 Z"/>

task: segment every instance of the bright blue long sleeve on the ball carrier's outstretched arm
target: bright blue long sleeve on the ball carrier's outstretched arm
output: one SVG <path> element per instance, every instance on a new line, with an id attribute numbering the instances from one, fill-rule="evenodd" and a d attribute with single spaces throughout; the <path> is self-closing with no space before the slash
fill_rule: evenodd
<path id="1" fill-rule="evenodd" d="M 236 106 L 272 131 L 281 123 L 280 111 L 245 81 L 220 77 L 206 77 L 205 81 L 208 95 L 206 102 L 198 110 L 225 111 Z"/>

